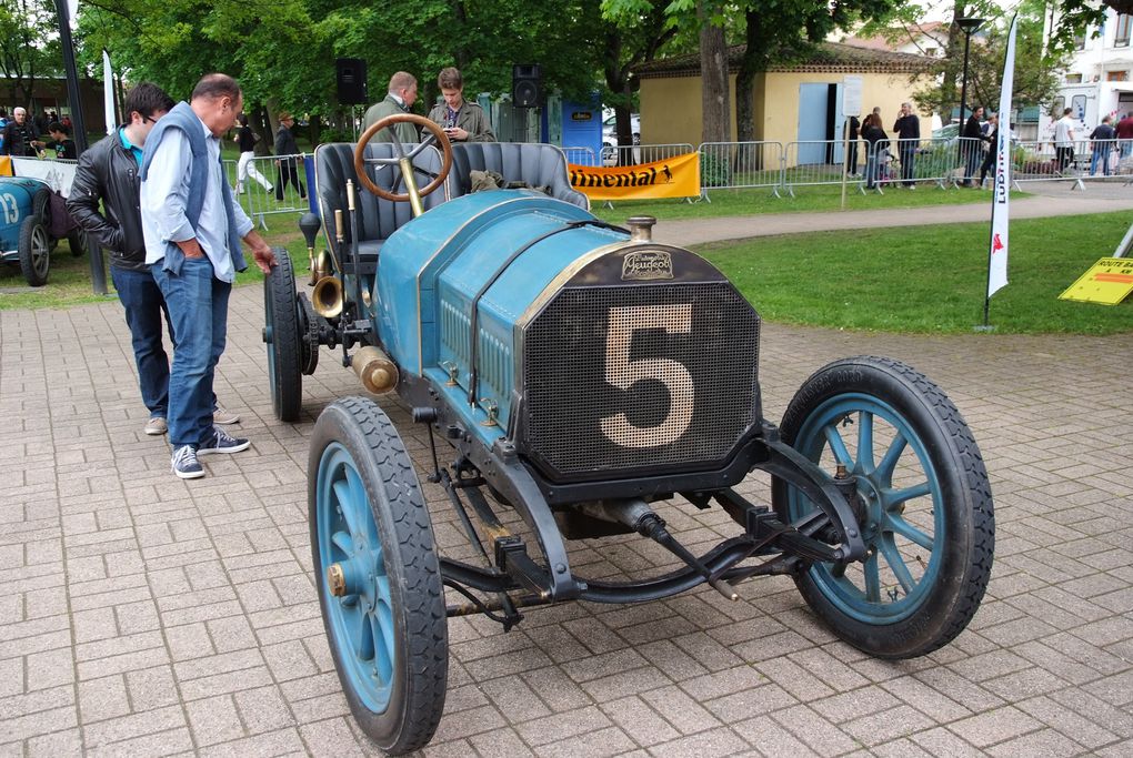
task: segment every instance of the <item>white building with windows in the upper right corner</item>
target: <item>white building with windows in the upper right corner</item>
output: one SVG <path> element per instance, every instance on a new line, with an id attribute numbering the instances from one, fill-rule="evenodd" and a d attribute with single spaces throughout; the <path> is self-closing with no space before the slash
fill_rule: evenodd
<path id="1" fill-rule="evenodd" d="M 1063 74 L 1063 85 L 1047 113 L 1040 118 L 1041 136 L 1066 107 L 1088 135 L 1106 115 L 1114 122 L 1133 112 L 1133 16 L 1106 10 L 1101 28 L 1091 27 L 1079 37 L 1077 50 Z M 1097 33 L 1097 36 L 1094 36 Z"/>

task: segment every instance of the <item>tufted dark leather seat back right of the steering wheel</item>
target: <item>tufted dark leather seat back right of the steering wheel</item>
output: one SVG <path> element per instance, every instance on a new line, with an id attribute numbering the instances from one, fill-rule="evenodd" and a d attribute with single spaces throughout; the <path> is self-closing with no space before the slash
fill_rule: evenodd
<path id="1" fill-rule="evenodd" d="M 471 171 L 495 171 L 509 182 L 546 187 L 552 197 L 589 209 L 590 200 L 570 186 L 566 157 L 554 145 L 543 143 L 457 143 L 452 146 L 449 195 L 472 191 Z"/>

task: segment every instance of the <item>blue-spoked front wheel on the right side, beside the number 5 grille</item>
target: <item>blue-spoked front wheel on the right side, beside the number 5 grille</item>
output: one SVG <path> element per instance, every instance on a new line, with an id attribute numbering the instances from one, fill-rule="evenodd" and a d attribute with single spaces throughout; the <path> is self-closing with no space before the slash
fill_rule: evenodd
<path id="1" fill-rule="evenodd" d="M 896 361 L 853 358 L 817 371 L 783 416 L 783 439 L 857 482 L 867 559 L 816 563 L 795 579 L 842 639 L 872 655 L 925 655 L 959 635 L 991 571 L 991 489 L 976 440 L 952 400 Z M 816 506 L 782 480 L 787 522 Z"/>

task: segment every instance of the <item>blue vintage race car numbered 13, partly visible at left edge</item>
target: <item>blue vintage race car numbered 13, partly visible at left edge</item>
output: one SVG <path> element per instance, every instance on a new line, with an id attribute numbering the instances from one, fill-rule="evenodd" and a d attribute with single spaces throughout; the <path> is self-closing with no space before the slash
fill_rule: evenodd
<path id="1" fill-rule="evenodd" d="M 82 231 L 61 231 L 74 226 L 56 217 L 66 214 L 61 200 L 39 179 L 0 176 L 0 260 L 18 264 L 33 287 L 48 283 L 51 251 L 59 239 L 67 238 L 71 255 L 80 256 L 85 249 Z"/>

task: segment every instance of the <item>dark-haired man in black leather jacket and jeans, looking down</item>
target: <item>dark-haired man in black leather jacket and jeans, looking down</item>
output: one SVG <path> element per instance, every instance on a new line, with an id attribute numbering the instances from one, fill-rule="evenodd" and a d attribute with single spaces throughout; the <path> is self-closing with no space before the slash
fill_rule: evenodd
<path id="1" fill-rule="evenodd" d="M 161 290 L 145 262 L 138 169 L 146 136 L 171 107 L 173 100 L 156 85 L 134 87 L 123 105 L 127 122 L 83 153 L 67 199 L 71 217 L 110 251 L 110 276 L 126 309 L 142 402 L 150 410 L 146 434 L 168 431 L 169 358 L 161 341 L 161 322 L 168 324 L 168 316 Z M 216 416 L 216 423 L 239 420 L 223 408 Z"/>

